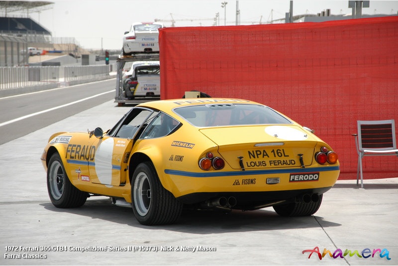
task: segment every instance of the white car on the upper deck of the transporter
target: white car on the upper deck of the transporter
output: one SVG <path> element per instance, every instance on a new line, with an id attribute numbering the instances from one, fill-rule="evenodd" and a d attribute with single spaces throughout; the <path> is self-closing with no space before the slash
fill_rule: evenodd
<path id="1" fill-rule="evenodd" d="M 163 27 L 161 22 L 133 23 L 130 30 L 124 32 L 123 55 L 159 52 L 159 29 Z"/>

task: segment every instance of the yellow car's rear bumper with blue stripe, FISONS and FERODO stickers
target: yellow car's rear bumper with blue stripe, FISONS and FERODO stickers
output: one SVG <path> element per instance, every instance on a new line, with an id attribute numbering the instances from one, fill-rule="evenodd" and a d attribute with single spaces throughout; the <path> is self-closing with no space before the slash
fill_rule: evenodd
<path id="1" fill-rule="evenodd" d="M 165 169 L 164 176 L 159 176 L 163 186 L 176 198 L 198 198 L 190 202 L 200 202 L 200 197 L 189 195 L 213 193 L 238 193 L 262 195 L 266 198 L 290 198 L 297 192 L 323 193 L 323 188 L 332 187 L 339 176 L 340 167 L 322 166 L 308 168 L 280 168 L 252 171 L 209 171 L 187 172 Z M 275 181 L 277 180 L 277 181 Z M 271 182 L 272 181 L 272 182 Z M 327 189 L 326 189 L 327 190 Z M 319 192 L 320 191 L 320 192 Z M 299 194 L 300 192 L 298 192 Z M 270 196 L 268 196 L 270 195 Z M 204 196 L 203 198 L 206 198 Z M 185 201 L 185 200 L 184 200 Z"/>

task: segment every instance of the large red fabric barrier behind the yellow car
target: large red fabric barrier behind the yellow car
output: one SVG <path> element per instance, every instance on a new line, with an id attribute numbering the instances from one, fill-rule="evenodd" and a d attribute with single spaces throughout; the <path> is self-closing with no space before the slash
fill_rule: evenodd
<path id="1" fill-rule="evenodd" d="M 398 125 L 398 16 L 164 28 L 160 62 L 162 99 L 198 90 L 268 105 L 333 147 L 340 179 L 356 178 L 357 120 Z M 363 170 L 398 177 L 398 158 L 364 157 Z"/>

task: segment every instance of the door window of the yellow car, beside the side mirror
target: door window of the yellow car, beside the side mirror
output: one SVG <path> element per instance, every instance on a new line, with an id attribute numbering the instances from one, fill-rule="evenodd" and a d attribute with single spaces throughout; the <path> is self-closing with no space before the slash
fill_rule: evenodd
<path id="1" fill-rule="evenodd" d="M 133 138 L 140 126 L 148 119 L 153 112 L 146 109 L 134 109 L 121 123 L 115 137 Z"/>

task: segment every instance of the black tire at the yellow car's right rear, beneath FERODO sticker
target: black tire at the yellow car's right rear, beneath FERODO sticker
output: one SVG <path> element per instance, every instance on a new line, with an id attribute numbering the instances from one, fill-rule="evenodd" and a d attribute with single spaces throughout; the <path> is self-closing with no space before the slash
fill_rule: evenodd
<path id="1" fill-rule="evenodd" d="M 316 202 L 295 202 L 283 205 L 273 206 L 275 212 L 280 216 L 310 216 L 314 214 L 320 207 L 322 203 L 323 194 L 319 195 L 319 200 Z"/>

